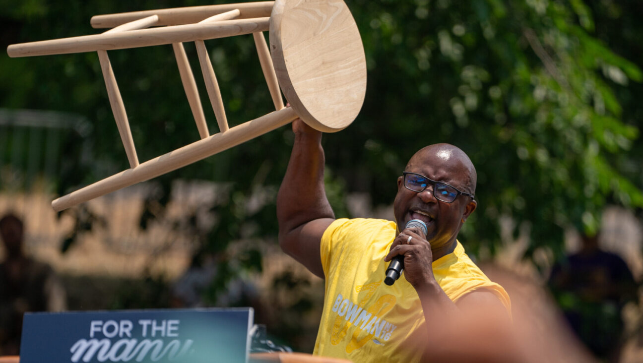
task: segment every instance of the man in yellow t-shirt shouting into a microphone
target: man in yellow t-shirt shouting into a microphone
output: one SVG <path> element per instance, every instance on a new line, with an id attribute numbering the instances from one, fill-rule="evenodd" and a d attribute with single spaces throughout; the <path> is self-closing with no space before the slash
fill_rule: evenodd
<path id="1" fill-rule="evenodd" d="M 447 328 L 461 326 L 467 316 L 483 311 L 509 321 L 509 296 L 457 241 L 477 206 L 475 168 L 462 150 L 439 144 L 413 155 L 397 179 L 397 224 L 336 220 L 323 185 L 321 133 L 301 120 L 293 131 L 277 197 L 279 240 L 287 254 L 326 280 L 315 354 L 354 362 L 436 361 L 438 350 L 454 347 L 445 338 L 455 332 L 445 335 Z M 426 224 L 426 237 L 405 229 L 412 219 Z M 397 255 L 404 256 L 404 272 L 387 286 L 386 267 Z"/>

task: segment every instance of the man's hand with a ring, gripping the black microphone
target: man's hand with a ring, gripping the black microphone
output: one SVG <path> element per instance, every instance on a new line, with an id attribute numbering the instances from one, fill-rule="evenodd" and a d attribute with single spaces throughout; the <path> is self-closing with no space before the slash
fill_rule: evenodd
<path id="1" fill-rule="evenodd" d="M 414 288 L 435 283 L 431 243 L 419 229 L 407 228 L 397 235 L 384 260 L 388 262 L 397 255 L 404 256 L 404 277 Z"/>

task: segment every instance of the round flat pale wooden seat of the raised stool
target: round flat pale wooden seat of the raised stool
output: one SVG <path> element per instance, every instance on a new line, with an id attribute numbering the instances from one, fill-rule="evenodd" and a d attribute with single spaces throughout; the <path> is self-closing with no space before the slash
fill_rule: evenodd
<path id="1" fill-rule="evenodd" d="M 341 0 L 276 0 L 273 64 L 285 98 L 311 127 L 335 132 L 356 118 L 366 93 L 366 58 Z"/>

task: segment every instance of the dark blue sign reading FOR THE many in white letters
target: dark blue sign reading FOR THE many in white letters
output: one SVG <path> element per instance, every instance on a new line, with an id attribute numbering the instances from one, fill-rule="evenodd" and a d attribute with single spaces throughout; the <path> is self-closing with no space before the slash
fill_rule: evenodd
<path id="1" fill-rule="evenodd" d="M 252 308 L 24 314 L 21 363 L 248 361 Z"/>

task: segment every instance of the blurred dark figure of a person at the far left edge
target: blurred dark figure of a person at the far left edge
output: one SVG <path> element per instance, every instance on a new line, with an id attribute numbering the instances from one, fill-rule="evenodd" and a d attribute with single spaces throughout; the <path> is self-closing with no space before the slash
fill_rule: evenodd
<path id="1" fill-rule="evenodd" d="M 13 214 L 0 219 L 5 260 L 0 263 L 0 355 L 17 355 L 25 312 L 66 309 L 60 279 L 46 263 L 24 254 L 23 221 Z"/>

